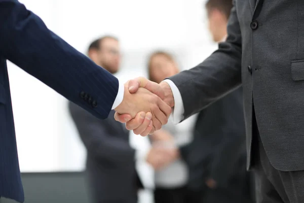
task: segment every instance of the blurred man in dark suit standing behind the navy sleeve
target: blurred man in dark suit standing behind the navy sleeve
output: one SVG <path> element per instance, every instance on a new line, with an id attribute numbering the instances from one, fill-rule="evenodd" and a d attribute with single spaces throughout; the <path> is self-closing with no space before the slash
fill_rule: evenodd
<path id="1" fill-rule="evenodd" d="M 95 40 L 89 46 L 88 56 L 109 73 L 117 73 L 121 60 L 119 40 L 113 36 Z M 165 164 L 164 159 L 170 157 L 171 151 L 133 149 L 129 131 L 114 119 L 113 110 L 105 120 L 73 103 L 69 103 L 69 111 L 87 149 L 87 175 L 94 202 L 136 203 L 137 191 L 143 186 L 135 160 L 147 161 L 158 168 Z"/>

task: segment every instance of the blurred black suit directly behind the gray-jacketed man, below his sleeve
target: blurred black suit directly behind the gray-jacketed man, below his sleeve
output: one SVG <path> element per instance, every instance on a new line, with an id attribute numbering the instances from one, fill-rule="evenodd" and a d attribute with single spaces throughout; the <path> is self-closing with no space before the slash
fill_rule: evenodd
<path id="1" fill-rule="evenodd" d="M 251 200 L 242 98 L 240 87 L 202 110 L 193 142 L 180 149 L 189 167 L 188 187 L 202 202 Z M 209 178 L 216 181 L 215 189 L 206 186 Z"/>

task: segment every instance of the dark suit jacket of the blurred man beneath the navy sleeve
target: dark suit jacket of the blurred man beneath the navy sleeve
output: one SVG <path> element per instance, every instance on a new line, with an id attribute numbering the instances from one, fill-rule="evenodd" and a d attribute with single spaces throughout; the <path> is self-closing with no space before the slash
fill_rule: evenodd
<path id="1" fill-rule="evenodd" d="M 114 119 L 99 120 L 69 103 L 70 114 L 87 148 L 87 172 L 95 202 L 137 202 L 142 187 L 135 170 L 135 150 L 129 131 Z"/>

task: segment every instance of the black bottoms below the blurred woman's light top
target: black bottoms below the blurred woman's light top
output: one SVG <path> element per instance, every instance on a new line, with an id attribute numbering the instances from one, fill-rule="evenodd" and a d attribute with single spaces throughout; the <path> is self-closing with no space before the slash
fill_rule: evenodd
<path id="1" fill-rule="evenodd" d="M 188 200 L 186 187 L 156 188 L 154 191 L 155 203 L 191 203 Z"/>

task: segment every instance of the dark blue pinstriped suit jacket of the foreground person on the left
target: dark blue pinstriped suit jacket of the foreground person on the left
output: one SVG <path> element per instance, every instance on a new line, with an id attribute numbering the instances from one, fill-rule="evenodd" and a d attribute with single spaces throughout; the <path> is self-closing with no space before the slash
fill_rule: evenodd
<path id="1" fill-rule="evenodd" d="M 17 0 L 0 0 L 0 196 L 23 202 L 6 60 L 100 119 L 119 83 Z"/>

